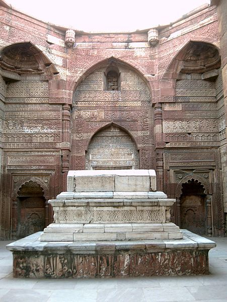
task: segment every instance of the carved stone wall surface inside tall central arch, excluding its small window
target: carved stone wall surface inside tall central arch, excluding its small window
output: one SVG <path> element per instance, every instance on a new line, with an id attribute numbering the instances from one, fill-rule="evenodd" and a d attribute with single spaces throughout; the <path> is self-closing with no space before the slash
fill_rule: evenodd
<path id="1" fill-rule="evenodd" d="M 129 67 L 117 61 L 115 64 L 120 71 L 120 90 L 105 90 L 106 67 L 88 75 L 75 90 L 72 102 L 71 170 L 92 169 L 92 166 L 110 168 L 123 165 L 133 169 L 152 169 L 156 166 L 152 146 L 153 111 L 148 87 Z M 98 132 L 93 137 L 110 123 L 123 127 L 130 135 L 116 126 L 110 126 L 106 130 L 108 134 Z M 114 131 L 117 133 L 114 134 Z M 139 149 L 139 159 L 136 148 Z M 109 157 L 105 160 L 107 154 Z"/>

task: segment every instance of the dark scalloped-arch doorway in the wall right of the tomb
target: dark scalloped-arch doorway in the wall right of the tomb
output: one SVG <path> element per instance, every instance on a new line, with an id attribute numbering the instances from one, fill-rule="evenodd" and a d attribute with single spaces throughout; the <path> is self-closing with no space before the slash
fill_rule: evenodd
<path id="1" fill-rule="evenodd" d="M 182 184 L 180 196 L 181 228 L 198 235 L 207 234 L 207 196 L 204 191 L 203 185 L 192 179 Z"/>

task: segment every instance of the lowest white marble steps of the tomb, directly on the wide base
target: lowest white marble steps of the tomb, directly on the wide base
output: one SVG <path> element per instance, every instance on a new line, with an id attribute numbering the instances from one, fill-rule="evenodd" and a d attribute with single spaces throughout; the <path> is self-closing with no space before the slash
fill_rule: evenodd
<path id="1" fill-rule="evenodd" d="M 91 223 L 50 224 L 40 236 L 41 241 L 116 241 L 181 239 L 174 223 Z"/>

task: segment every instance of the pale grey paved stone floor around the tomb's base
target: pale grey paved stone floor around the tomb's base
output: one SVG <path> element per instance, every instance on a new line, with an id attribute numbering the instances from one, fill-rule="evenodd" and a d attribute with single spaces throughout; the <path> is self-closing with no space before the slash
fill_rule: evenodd
<path id="1" fill-rule="evenodd" d="M 14 279 L 9 241 L 0 241 L 1 302 L 226 302 L 227 238 L 209 238 L 210 275 L 124 279 Z"/>

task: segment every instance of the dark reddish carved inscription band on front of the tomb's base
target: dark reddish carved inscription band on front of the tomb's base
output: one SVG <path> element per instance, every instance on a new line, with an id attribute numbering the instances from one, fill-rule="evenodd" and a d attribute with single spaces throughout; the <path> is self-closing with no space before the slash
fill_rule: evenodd
<path id="1" fill-rule="evenodd" d="M 32 257 L 15 255 L 14 277 L 81 278 L 208 273 L 206 251 L 145 254 L 59 254 Z"/>

